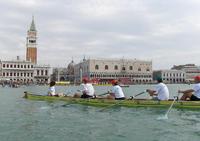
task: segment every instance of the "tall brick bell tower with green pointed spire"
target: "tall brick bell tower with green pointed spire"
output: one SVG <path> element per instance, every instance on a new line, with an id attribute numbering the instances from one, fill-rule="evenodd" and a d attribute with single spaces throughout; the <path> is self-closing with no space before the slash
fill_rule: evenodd
<path id="1" fill-rule="evenodd" d="M 32 18 L 30 29 L 26 37 L 26 61 L 37 64 L 37 31 L 35 28 L 34 17 Z"/>

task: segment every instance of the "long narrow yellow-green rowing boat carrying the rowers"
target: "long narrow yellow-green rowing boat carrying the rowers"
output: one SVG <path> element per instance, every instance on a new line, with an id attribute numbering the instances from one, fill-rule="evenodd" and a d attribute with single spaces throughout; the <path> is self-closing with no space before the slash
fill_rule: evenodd
<path id="1" fill-rule="evenodd" d="M 155 100 L 145 100 L 145 99 L 134 99 L 134 100 L 111 100 L 104 98 L 96 99 L 82 99 L 74 98 L 71 96 L 65 97 L 54 97 L 54 96 L 44 96 L 44 95 L 35 95 L 30 92 L 24 92 L 24 98 L 30 100 L 39 100 L 39 101 L 66 101 L 69 103 L 83 104 L 89 106 L 97 107 L 106 107 L 110 105 L 117 105 L 123 107 L 158 107 L 166 108 L 172 104 L 170 101 L 155 101 Z M 177 101 L 174 103 L 175 108 L 188 108 L 188 109 L 200 109 L 200 101 Z"/>

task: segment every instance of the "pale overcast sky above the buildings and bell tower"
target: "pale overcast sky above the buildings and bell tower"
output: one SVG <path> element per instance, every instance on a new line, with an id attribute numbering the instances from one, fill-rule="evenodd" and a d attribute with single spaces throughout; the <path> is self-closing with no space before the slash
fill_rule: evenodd
<path id="1" fill-rule="evenodd" d="M 199 0 L 0 0 L 0 59 L 25 59 L 32 16 L 38 64 L 138 59 L 200 65 Z"/>

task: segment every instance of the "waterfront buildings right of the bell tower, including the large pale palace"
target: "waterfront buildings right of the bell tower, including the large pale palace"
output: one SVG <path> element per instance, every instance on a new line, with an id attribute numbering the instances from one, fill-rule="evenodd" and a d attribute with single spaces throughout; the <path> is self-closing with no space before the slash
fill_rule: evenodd
<path id="1" fill-rule="evenodd" d="M 155 83 L 161 77 L 165 83 L 193 83 L 193 78 L 200 75 L 200 67 L 195 64 L 173 66 L 169 70 L 152 69 L 152 61 L 136 59 L 83 59 L 73 61 L 66 68 L 54 68 L 52 79 L 80 83 L 88 78 L 97 84 L 107 84 L 118 79 L 123 84 Z"/>

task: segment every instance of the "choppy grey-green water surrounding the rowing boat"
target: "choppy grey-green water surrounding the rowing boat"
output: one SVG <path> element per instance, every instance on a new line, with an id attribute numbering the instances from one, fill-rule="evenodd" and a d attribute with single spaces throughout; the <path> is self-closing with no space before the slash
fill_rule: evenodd
<path id="1" fill-rule="evenodd" d="M 153 85 L 123 88 L 127 96 Z M 192 85 L 169 85 L 171 97 Z M 78 87 L 56 87 L 75 92 Z M 103 93 L 110 87 L 96 87 Z M 47 87 L 0 87 L 0 141 L 199 141 L 200 110 L 98 107 L 64 102 L 30 101 L 24 91 L 45 93 Z M 147 95 L 141 97 L 149 98 Z"/>

